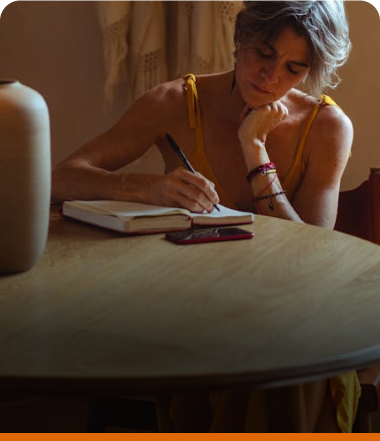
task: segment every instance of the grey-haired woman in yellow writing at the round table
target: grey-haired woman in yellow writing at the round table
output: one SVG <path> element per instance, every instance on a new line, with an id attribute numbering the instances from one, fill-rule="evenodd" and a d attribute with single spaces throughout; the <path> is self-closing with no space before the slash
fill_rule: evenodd
<path id="1" fill-rule="evenodd" d="M 344 2 L 243 3 L 235 24 L 235 69 L 187 75 L 148 91 L 114 127 L 55 167 L 53 200 L 119 199 L 199 212 L 220 201 L 334 227 L 353 128 L 321 91 L 338 84 L 337 69 L 349 56 Z M 296 89 L 301 84 L 311 94 Z M 182 166 L 166 133 L 198 174 Z M 118 171 L 153 143 L 165 175 Z M 357 388 L 355 373 L 342 384 Z M 305 394 L 315 404 L 308 430 L 318 427 L 327 405 L 332 409 L 326 390 L 335 386 L 331 380 L 305 387 L 313 390 Z M 350 417 L 339 421 L 341 430 L 349 430 L 355 416 L 354 395 Z"/>

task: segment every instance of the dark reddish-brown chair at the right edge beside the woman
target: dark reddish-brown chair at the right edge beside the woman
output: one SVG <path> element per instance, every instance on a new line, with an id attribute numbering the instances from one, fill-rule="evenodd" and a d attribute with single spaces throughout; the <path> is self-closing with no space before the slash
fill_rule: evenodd
<path id="1" fill-rule="evenodd" d="M 380 167 L 371 168 L 358 187 L 340 192 L 335 229 L 380 245 Z M 371 414 L 380 402 L 380 363 L 358 370 L 358 377 L 362 394 L 354 431 L 371 432 Z"/>

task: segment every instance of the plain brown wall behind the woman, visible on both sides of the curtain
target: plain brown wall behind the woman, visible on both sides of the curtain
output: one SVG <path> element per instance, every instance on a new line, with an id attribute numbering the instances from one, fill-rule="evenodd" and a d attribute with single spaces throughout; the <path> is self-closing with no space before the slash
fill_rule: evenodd
<path id="1" fill-rule="evenodd" d="M 343 82 L 331 92 L 355 127 L 343 188 L 359 184 L 369 166 L 380 165 L 380 17 L 369 2 L 346 3 L 354 49 L 341 71 Z M 0 16 L 0 60 L 0 77 L 17 78 L 45 97 L 53 163 L 123 111 L 120 96 L 112 112 L 103 112 L 102 38 L 93 1 L 10 3 Z"/>

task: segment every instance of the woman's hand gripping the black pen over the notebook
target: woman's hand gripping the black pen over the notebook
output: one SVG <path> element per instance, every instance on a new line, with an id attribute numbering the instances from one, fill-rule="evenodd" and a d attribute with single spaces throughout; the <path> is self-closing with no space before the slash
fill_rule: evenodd
<path id="1" fill-rule="evenodd" d="M 183 167 L 157 176 L 147 184 L 147 198 L 154 205 L 182 207 L 192 212 L 211 212 L 219 196 L 214 184 L 200 173 L 194 174 Z"/>

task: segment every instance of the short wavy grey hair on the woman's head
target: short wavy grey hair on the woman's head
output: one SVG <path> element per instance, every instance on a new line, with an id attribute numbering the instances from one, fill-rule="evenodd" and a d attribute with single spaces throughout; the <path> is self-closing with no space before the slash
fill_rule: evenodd
<path id="1" fill-rule="evenodd" d="M 235 22 L 236 47 L 273 42 L 284 27 L 291 26 L 309 44 L 308 92 L 320 95 L 340 83 L 337 70 L 352 47 L 344 1 L 248 0 L 243 4 Z"/>

